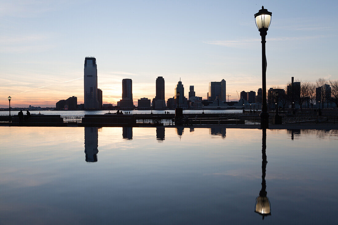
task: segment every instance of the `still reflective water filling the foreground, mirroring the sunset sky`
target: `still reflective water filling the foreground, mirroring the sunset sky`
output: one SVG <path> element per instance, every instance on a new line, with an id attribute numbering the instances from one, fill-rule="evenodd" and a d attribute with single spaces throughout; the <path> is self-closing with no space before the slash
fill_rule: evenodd
<path id="1" fill-rule="evenodd" d="M 3 224 L 337 224 L 338 130 L 0 127 Z"/>

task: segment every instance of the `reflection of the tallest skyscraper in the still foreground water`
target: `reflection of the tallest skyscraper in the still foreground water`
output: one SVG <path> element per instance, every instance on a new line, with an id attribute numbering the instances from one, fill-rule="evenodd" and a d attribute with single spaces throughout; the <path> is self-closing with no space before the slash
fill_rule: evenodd
<path id="1" fill-rule="evenodd" d="M 86 162 L 97 162 L 98 147 L 98 128 L 84 127 L 84 153 L 86 154 Z"/>

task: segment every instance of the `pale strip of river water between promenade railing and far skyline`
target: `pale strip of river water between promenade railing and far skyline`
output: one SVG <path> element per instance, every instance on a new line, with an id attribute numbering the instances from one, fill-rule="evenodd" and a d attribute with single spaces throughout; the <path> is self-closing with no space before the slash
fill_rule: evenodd
<path id="1" fill-rule="evenodd" d="M 248 110 L 248 109 L 245 109 Z M 250 110 L 250 109 L 249 109 Z M 256 110 L 256 109 L 255 109 Z M 45 115 L 61 115 L 61 116 L 83 116 L 86 114 L 105 114 L 108 112 L 115 113 L 117 110 L 63 110 L 63 111 L 30 111 L 31 114 L 45 114 Z M 152 110 L 152 113 L 163 113 L 169 111 L 171 114 L 175 113 L 175 110 Z M 227 110 L 183 110 L 183 113 L 242 113 L 242 109 L 227 109 Z M 26 111 L 23 111 L 26 114 Z M 129 112 L 129 111 L 128 111 Z M 18 115 L 19 111 L 10 111 L 11 115 Z M 130 114 L 150 114 L 151 110 L 130 110 Z M 9 115 L 9 111 L 0 111 L 0 115 Z"/>

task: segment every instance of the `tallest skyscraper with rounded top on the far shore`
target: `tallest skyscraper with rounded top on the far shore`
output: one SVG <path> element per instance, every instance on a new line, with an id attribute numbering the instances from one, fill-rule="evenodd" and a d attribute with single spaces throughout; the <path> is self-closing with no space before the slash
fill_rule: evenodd
<path id="1" fill-rule="evenodd" d="M 97 66 L 94 57 L 84 59 L 84 109 L 97 109 Z"/>

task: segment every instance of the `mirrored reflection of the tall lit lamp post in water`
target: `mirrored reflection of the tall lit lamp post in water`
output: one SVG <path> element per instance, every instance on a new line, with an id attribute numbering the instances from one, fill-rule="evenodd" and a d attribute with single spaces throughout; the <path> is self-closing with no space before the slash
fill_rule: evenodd
<path id="1" fill-rule="evenodd" d="M 259 196 L 256 198 L 256 206 L 255 213 L 263 216 L 263 220 L 265 216 L 271 215 L 271 207 L 269 198 L 266 197 L 266 182 L 265 182 L 265 171 L 266 164 L 268 163 L 266 160 L 266 129 L 262 129 L 262 189 L 259 192 Z"/>

